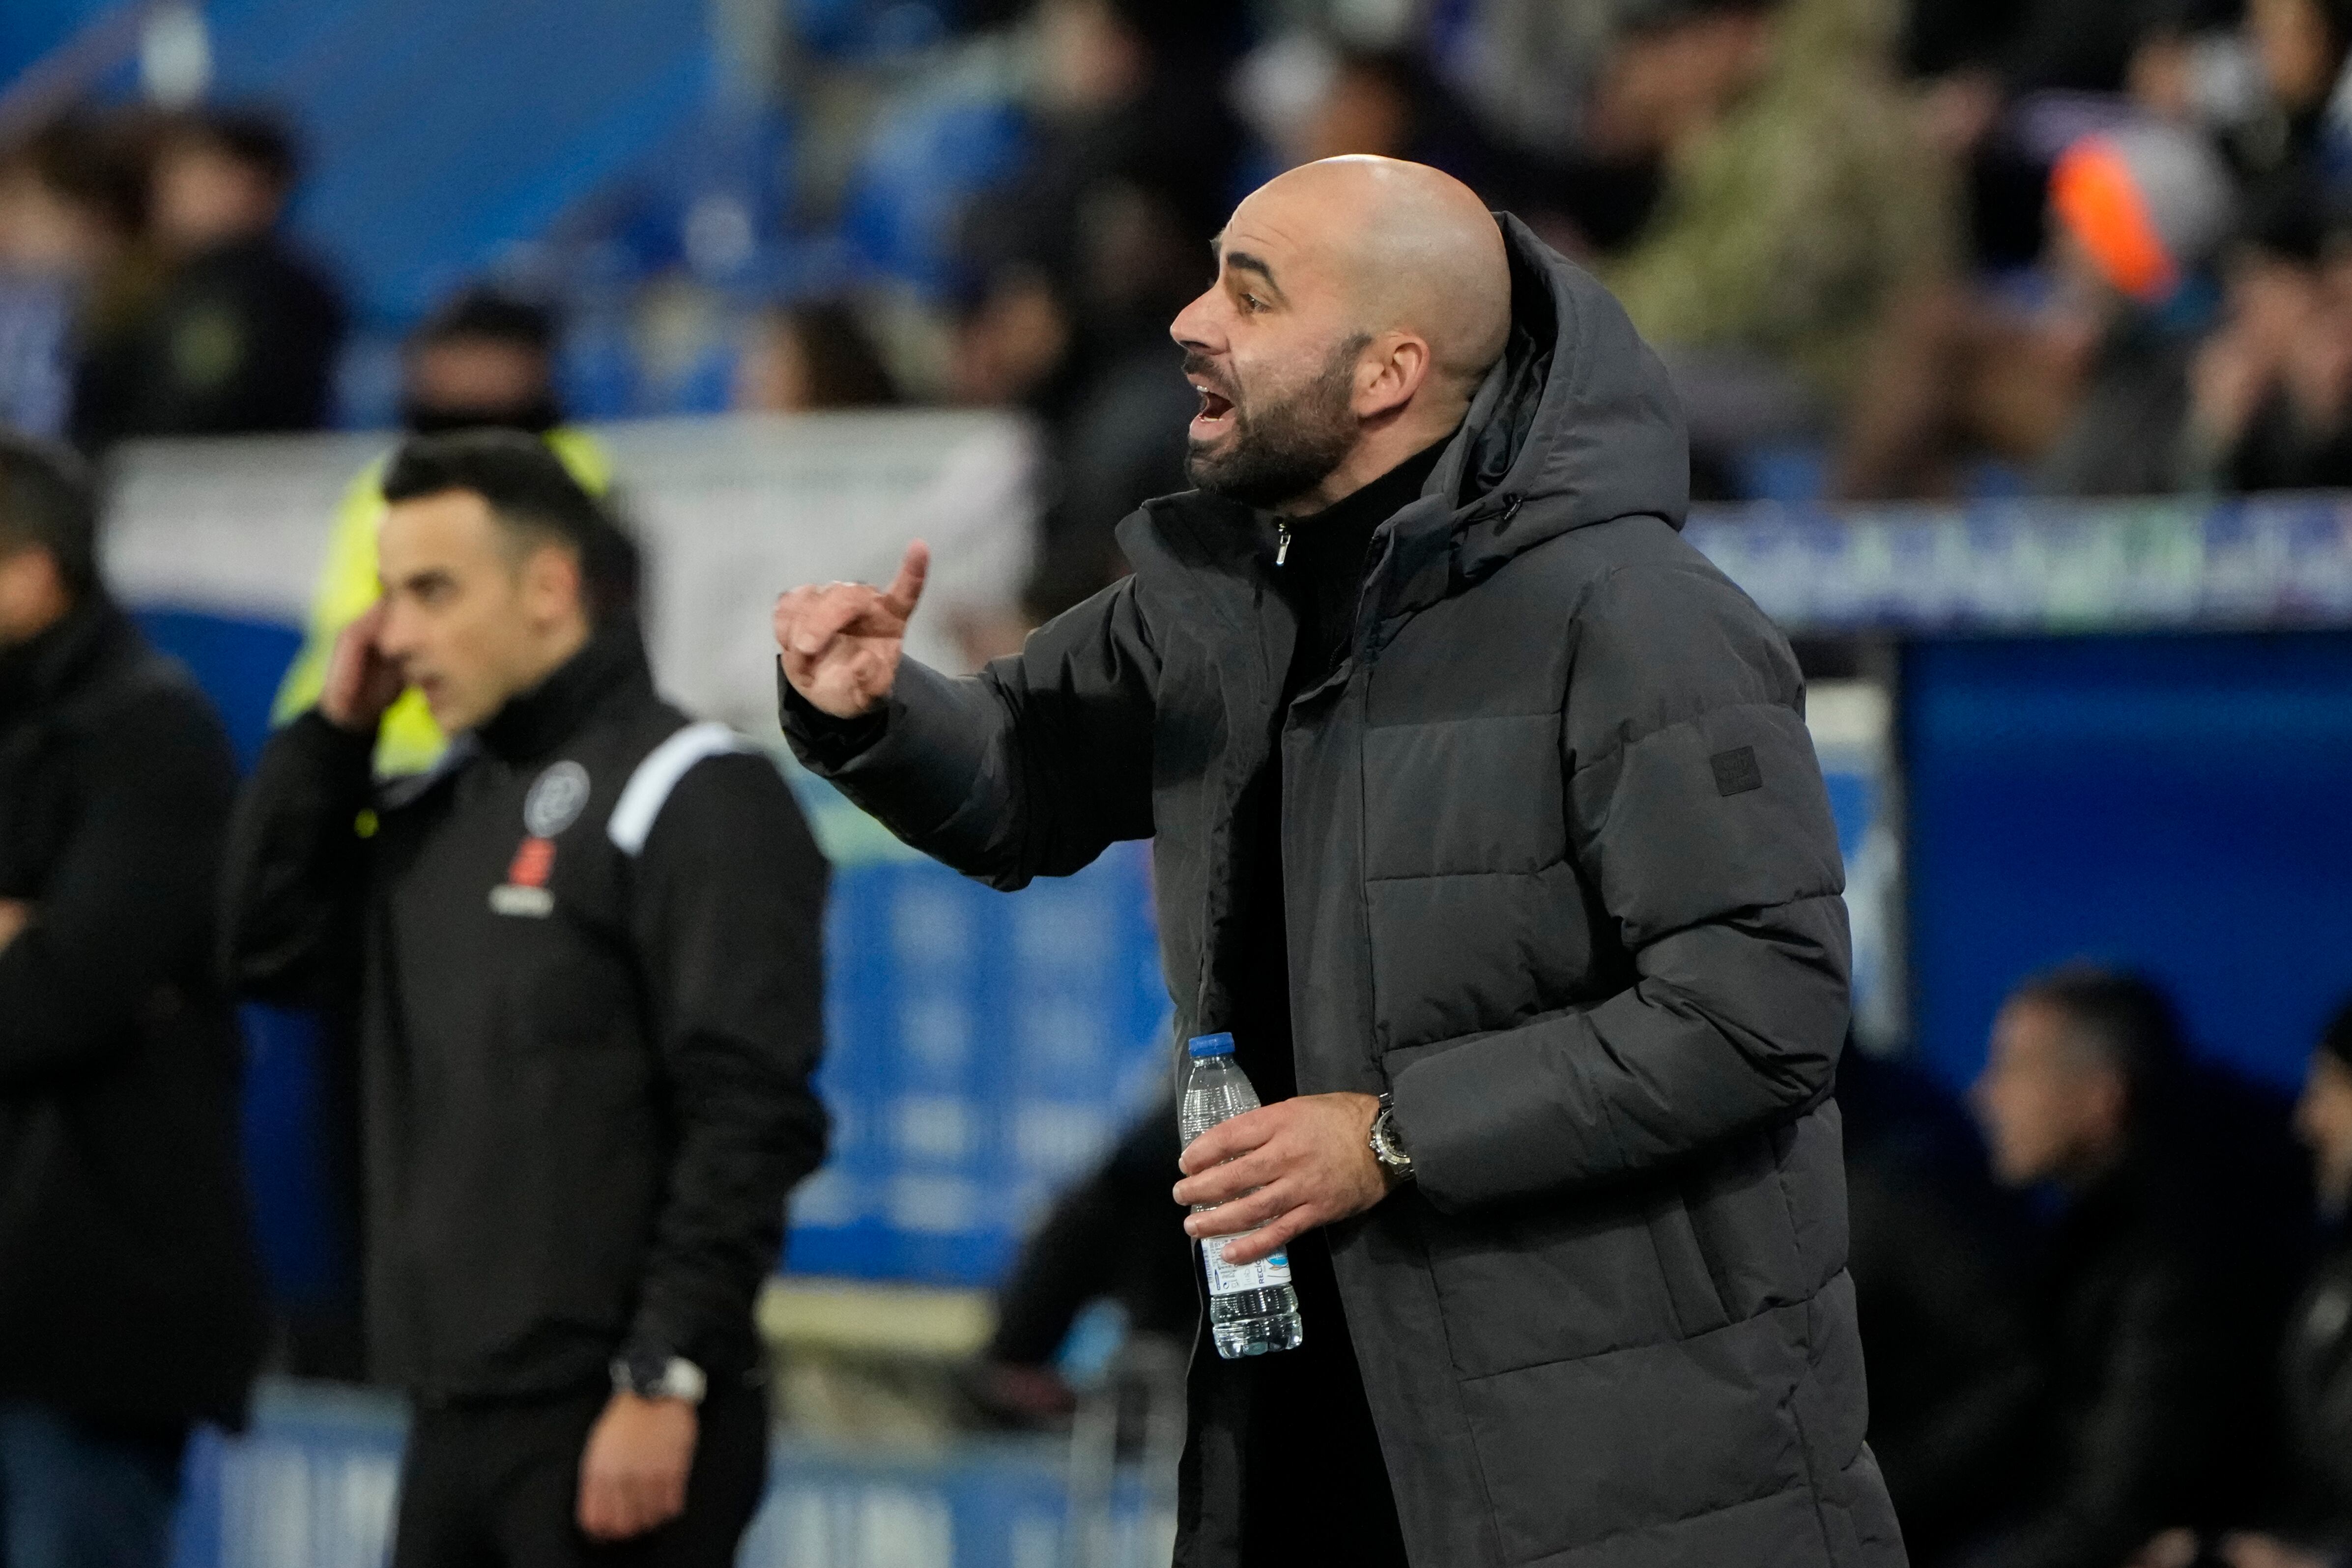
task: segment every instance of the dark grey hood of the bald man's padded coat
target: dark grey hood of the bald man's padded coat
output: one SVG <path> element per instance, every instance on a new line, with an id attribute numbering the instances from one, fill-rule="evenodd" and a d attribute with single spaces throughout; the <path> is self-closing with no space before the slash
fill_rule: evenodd
<path id="1" fill-rule="evenodd" d="M 1465 571 L 1613 517 L 1679 529 L 1691 447 L 1665 367 L 1590 273 L 1519 219 L 1496 221 L 1510 252 L 1510 346 L 1430 480 L 1461 508 Z"/>

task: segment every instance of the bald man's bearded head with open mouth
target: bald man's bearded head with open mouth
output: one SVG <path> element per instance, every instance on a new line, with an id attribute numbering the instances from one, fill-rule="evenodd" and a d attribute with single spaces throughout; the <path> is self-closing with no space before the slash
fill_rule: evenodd
<path id="1" fill-rule="evenodd" d="M 1428 165 L 1301 165 L 1235 209 L 1171 331 L 1202 390 L 1195 482 L 1319 510 L 1461 423 L 1510 334 L 1503 233 Z"/>

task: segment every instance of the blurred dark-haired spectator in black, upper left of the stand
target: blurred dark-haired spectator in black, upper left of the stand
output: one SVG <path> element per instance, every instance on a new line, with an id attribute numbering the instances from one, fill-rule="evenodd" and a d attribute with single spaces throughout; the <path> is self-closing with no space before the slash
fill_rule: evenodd
<path id="1" fill-rule="evenodd" d="M 202 113 L 165 127 L 148 207 L 165 277 L 85 346 L 73 397 L 85 449 L 327 423 L 343 303 L 278 233 L 294 179 L 275 120 Z"/>

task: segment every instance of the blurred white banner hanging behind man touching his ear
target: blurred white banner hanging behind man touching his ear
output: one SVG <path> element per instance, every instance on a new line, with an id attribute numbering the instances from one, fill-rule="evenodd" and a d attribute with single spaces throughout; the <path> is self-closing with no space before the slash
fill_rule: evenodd
<path id="1" fill-rule="evenodd" d="M 644 543 L 647 644 L 701 717 L 774 731 L 769 609 L 786 588 L 884 583 L 931 543 L 915 658 L 962 670 L 955 628 L 1011 614 L 1030 562 L 1035 444 L 1004 414 L 746 414 L 597 425 Z M 106 559 L 139 607 L 303 625 L 336 505 L 393 437 L 139 442 L 111 470 Z"/>

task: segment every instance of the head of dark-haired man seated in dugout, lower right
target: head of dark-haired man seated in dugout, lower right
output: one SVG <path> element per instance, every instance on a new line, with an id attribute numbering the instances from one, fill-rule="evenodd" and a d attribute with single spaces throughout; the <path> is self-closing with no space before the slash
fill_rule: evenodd
<path id="1" fill-rule="evenodd" d="M 2173 1006 L 2140 976 L 2070 966 L 2013 990 L 1973 1103 L 1992 1173 L 2082 1185 L 2114 1166 L 2180 1067 Z"/>

